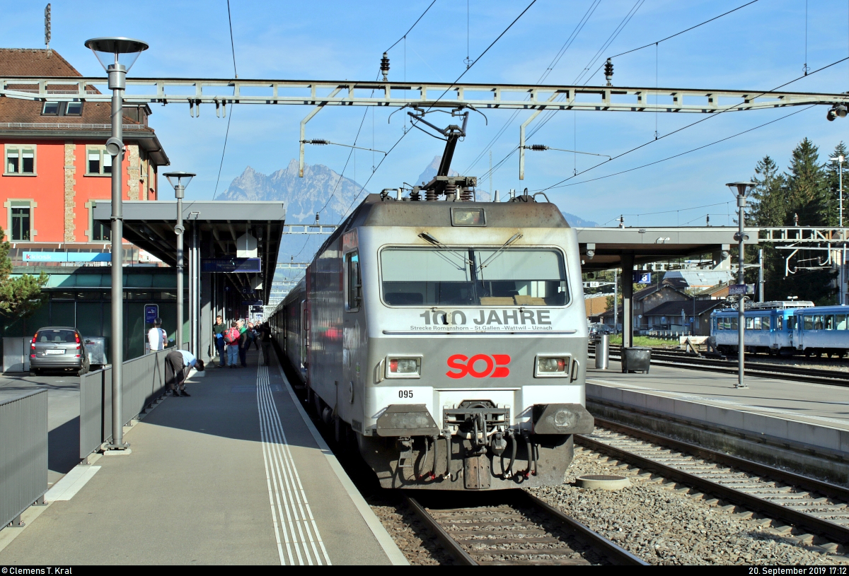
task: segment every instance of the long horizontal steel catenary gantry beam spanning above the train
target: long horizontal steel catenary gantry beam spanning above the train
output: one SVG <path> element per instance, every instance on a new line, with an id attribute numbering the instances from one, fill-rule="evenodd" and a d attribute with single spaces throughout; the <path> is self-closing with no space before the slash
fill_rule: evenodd
<path id="1" fill-rule="evenodd" d="M 106 83 L 105 78 L 99 77 L 3 76 L 0 77 L 0 95 L 40 101 L 49 99 L 106 102 L 110 98 L 109 94 L 95 88 L 105 86 Z M 849 96 L 844 93 L 347 80 L 127 78 L 127 87 L 131 88 L 125 94 L 127 103 L 190 103 L 193 106 L 200 103 L 216 106 L 231 103 L 393 107 L 418 105 L 439 108 L 472 106 L 481 109 L 711 114 L 808 104 L 833 105 L 849 100 Z M 147 90 L 143 89 L 145 87 Z M 452 92 L 449 98 L 438 98 L 447 91 Z M 369 92 L 368 96 L 365 95 L 366 92 Z M 433 95 L 429 92 L 433 92 Z M 652 96 L 655 98 L 651 98 Z M 738 102 L 720 104 L 721 98 Z"/>

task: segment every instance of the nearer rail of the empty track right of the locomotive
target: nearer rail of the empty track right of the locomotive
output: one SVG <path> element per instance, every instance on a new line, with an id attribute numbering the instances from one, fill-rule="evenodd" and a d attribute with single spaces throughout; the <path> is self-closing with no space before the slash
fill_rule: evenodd
<path id="1" fill-rule="evenodd" d="M 706 478 L 699 478 L 694 474 L 683 472 L 678 468 L 666 466 L 649 458 L 638 456 L 627 450 L 621 450 L 614 446 L 606 445 L 604 442 L 590 439 L 586 436 L 576 434 L 576 444 L 587 446 L 597 452 L 604 452 L 616 457 L 619 460 L 627 461 L 634 466 L 646 470 L 654 471 L 664 478 L 669 478 L 675 482 L 687 484 L 693 488 L 700 489 L 703 492 L 717 495 L 722 500 L 733 502 L 739 506 L 744 506 L 755 512 L 761 512 L 769 517 L 783 520 L 796 526 L 812 530 L 818 534 L 827 535 L 829 538 L 840 542 L 841 544 L 849 543 L 849 528 L 843 527 L 840 524 L 829 522 L 823 518 L 818 518 L 798 512 L 792 508 L 781 506 L 774 502 L 766 501 L 757 496 L 746 494 L 737 489 L 729 488 L 722 484 L 717 484 Z"/>

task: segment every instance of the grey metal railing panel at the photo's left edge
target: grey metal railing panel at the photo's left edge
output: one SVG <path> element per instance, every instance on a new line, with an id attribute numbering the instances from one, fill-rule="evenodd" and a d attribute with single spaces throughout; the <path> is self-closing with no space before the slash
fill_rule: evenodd
<path id="1" fill-rule="evenodd" d="M 48 391 L 0 400 L 0 529 L 48 491 Z"/>

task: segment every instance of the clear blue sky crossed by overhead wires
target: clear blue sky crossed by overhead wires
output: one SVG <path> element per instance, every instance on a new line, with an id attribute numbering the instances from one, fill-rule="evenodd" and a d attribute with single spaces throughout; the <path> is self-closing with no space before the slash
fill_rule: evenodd
<path id="1" fill-rule="evenodd" d="M 599 51 L 636 0 L 601 0 L 576 40 L 548 75 L 547 83 L 571 84 Z M 380 55 L 407 31 L 430 0 L 409 2 L 245 2 L 231 0 L 233 41 L 240 78 L 374 80 Z M 469 82 L 535 82 L 546 70 L 593 0 L 537 3 L 464 76 Z M 604 56 L 621 53 L 698 24 L 745 3 L 745 0 L 672 2 L 645 0 Z M 469 0 L 469 56 L 475 59 L 525 8 L 526 2 Z M 150 1 L 146 3 L 53 2 L 51 48 L 85 75 L 103 75 L 82 42 L 94 36 L 132 36 L 149 42 L 150 49 L 131 70 L 136 76 L 232 77 L 228 12 L 225 0 L 204 3 Z M 43 48 L 43 5 L 0 2 L 0 37 L 4 47 Z M 806 62 L 805 0 L 760 0 L 711 24 L 663 42 L 657 49 L 657 81 L 661 87 L 768 90 L 801 75 Z M 467 9 L 464 2 L 436 0 L 430 12 L 391 50 L 390 78 L 453 81 L 465 68 Z M 405 56 L 406 43 L 406 56 Z M 807 64 L 816 70 L 849 55 L 849 3 L 812 0 L 808 5 Z M 599 60 L 599 64 L 601 60 Z M 598 64 L 597 64 L 598 65 Z M 614 85 L 655 85 L 655 49 L 646 48 L 615 59 Z M 589 82 L 604 83 L 599 73 Z M 849 62 L 796 81 L 784 90 L 846 92 Z M 194 171 L 198 177 L 187 197 L 210 199 L 222 158 L 226 120 L 214 110 L 201 110 L 199 119 L 188 107 L 154 106 L 151 125 L 171 158 L 172 170 Z M 285 168 L 298 153 L 298 127 L 309 109 L 301 106 L 247 106 L 233 111 L 227 154 L 219 191 L 246 165 L 270 173 Z M 778 119 L 795 109 L 770 109 L 724 114 L 651 143 L 640 151 L 589 171 L 606 176 L 653 162 L 689 148 Z M 388 149 L 402 134 L 400 114 L 387 123 L 391 109 L 369 110 L 358 145 Z M 363 109 L 326 109 L 307 129 L 307 137 L 353 143 Z M 698 225 L 727 221 L 733 204 L 725 182 L 751 177 L 756 161 L 770 154 L 784 167 L 791 149 L 804 137 L 817 143 L 823 156 L 841 140 L 849 141 L 849 118 L 828 122 L 818 107 L 780 120 L 744 136 L 694 154 L 638 171 L 550 190 L 549 198 L 582 218 L 612 224 L 620 214 L 629 225 Z M 469 136 L 458 144 L 453 168 L 469 176 L 486 171 L 488 155 L 471 166 L 512 112 L 488 111 L 489 125 L 480 115 L 469 120 Z M 373 119 L 374 115 L 374 119 Z M 516 146 L 521 113 L 492 147 L 497 163 Z M 436 115 L 437 117 L 441 115 Z M 696 115 L 661 114 L 661 135 L 699 120 Z M 533 126 L 533 125 L 531 125 Z M 654 139 L 655 115 L 638 113 L 561 112 L 529 141 L 555 148 L 572 148 L 616 155 Z M 374 146 L 372 144 L 374 143 Z M 308 147 L 306 161 L 341 171 L 347 148 Z M 441 143 L 412 131 L 374 173 L 368 189 L 397 187 L 412 182 Z M 363 183 L 379 157 L 357 152 L 345 175 Z M 493 176 L 499 190 L 548 187 L 573 171 L 597 162 L 592 156 L 554 151 L 529 153 L 526 180 L 518 179 L 518 158 L 509 159 Z M 470 169 L 469 169 L 470 168 Z M 355 174 L 356 171 L 356 174 Z M 488 180 L 482 182 L 484 189 Z M 720 205 L 694 209 L 705 204 Z M 692 209 L 692 210 L 690 210 Z M 682 210 L 666 214 L 652 212 Z M 638 217 L 637 214 L 640 214 Z"/>

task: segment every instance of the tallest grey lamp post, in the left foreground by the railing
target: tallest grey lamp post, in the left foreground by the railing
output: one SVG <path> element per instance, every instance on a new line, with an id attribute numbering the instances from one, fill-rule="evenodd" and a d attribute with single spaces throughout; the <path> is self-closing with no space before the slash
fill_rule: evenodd
<path id="1" fill-rule="evenodd" d="M 125 450 L 121 392 L 124 361 L 124 210 L 121 205 L 121 166 L 124 159 L 123 109 L 127 72 L 138 55 L 148 49 L 145 42 L 132 38 L 92 38 L 85 42 L 109 75 L 112 91 L 112 136 L 106 151 L 112 156 L 112 443 L 109 450 Z M 121 453 L 121 452 L 118 452 Z"/>

